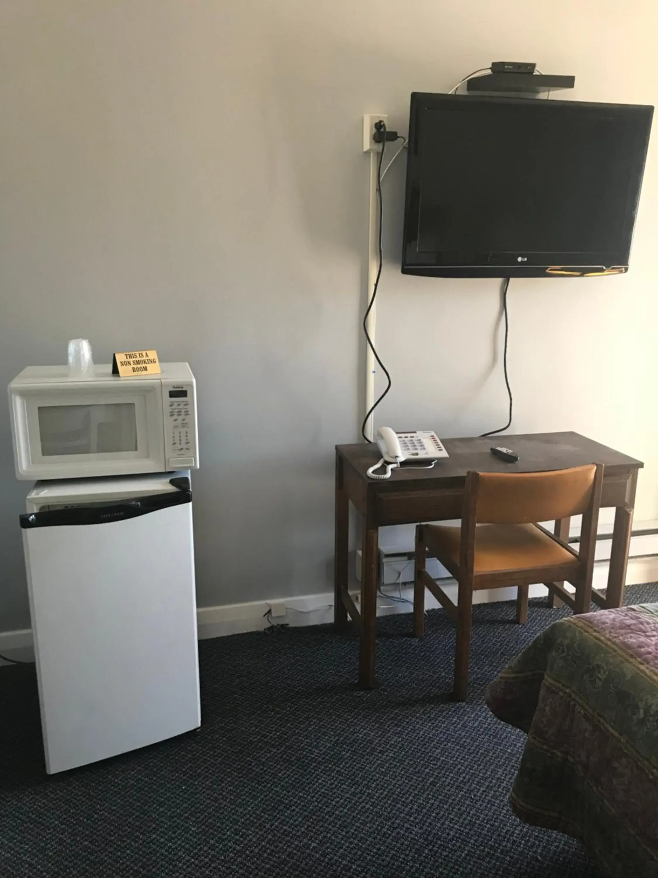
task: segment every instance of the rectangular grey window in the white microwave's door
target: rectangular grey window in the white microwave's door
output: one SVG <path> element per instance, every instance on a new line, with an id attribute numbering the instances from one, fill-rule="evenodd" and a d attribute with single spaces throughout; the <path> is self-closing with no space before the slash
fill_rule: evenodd
<path id="1" fill-rule="evenodd" d="M 42 457 L 136 451 L 135 404 L 39 406 L 39 436 Z"/>

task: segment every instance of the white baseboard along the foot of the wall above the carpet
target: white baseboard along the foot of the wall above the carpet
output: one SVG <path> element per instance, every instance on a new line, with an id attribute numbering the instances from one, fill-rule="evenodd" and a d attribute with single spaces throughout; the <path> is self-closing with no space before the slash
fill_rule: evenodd
<path id="1" fill-rule="evenodd" d="M 594 587 L 604 588 L 608 579 L 608 562 L 598 561 L 594 568 Z M 658 581 L 658 556 L 647 558 L 630 558 L 626 571 L 626 585 L 641 585 L 645 582 Z M 457 586 L 454 579 L 442 579 L 441 586 L 447 594 L 456 600 Z M 569 589 L 570 587 L 567 586 Z M 387 589 L 388 590 L 388 589 Z M 397 596 L 397 589 L 390 589 L 390 594 Z M 411 600 L 413 589 L 403 587 L 402 596 Z M 531 597 L 547 594 L 542 585 L 530 587 Z M 354 592 L 354 601 L 359 601 L 358 592 Z M 516 598 L 516 588 L 494 588 L 476 592 L 476 603 L 491 601 L 511 601 Z M 426 592 L 426 608 L 439 607 L 433 596 Z M 272 610 L 271 622 L 290 626 L 318 625 L 333 621 L 333 592 L 323 594 L 307 594 L 301 597 L 279 598 L 273 601 L 247 601 L 245 603 L 225 604 L 219 607 L 199 607 L 197 609 L 197 625 L 199 639 L 207 637 L 225 637 L 229 634 L 241 634 L 245 631 L 259 631 L 269 627 L 267 614 Z M 377 615 L 409 613 L 410 604 L 378 599 Z M 0 653 L 11 651 L 11 658 L 30 659 L 32 649 L 32 631 L 30 629 L 0 632 Z M 20 650 L 21 652 L 16 652 Z M 0 664 L 4 664 L 0 659 Z"/>

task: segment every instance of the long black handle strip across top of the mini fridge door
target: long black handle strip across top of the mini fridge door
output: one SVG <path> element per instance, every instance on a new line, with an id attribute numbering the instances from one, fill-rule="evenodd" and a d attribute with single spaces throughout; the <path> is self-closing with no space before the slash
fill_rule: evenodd
<path id="1" fill-rule="evenodd" d="M 132 500 L 121 500 L 119 503 L 107 503 L 99 506 L 79 506 L 69 509 L 48 509 L 46 512 L 26 512 L 19 516 L 23 529 L 55 528 L 64 525 L 111 524 L 123 522 L 139 515 L 149 515 L 159 509 L 181 506 L 191 503 L 190 489 L 178 488 L 167 493 L 148 494 Z"/>

